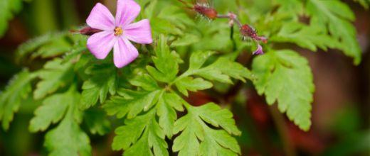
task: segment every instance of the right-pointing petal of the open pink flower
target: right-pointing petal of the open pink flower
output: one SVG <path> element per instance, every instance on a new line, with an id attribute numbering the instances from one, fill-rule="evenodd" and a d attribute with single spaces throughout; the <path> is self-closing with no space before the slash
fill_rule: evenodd
<path id="1" fill-rule="evenodd" d="M 150 44 L 153 42 L 152 30 L 147 19 L 129 24 L 125 27 L 124 32 L 126 37 L 135 43 Z"/>

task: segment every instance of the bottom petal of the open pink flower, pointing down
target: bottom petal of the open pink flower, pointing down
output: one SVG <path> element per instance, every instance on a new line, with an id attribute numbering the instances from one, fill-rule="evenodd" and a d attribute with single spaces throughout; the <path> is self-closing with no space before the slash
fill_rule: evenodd
<path id="1" fill-rule="evenodd" d="M 125 67 L 139 55 L 127 38 L 118 38 L 113 51 L 115 66 L 118 68 Z"/>

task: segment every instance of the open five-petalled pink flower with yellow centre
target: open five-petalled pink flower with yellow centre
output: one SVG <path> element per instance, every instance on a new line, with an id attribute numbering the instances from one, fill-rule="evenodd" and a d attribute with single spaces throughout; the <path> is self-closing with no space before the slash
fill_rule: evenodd
<path id="1" fill-rule="evenodd" d="M 115 18 L 100 3 L 97 3 L 86 20 L 91 28 L 101 30 L 88 39 L 88 49 L 97 59 L 105 59 L 113 48 L 116 67 L 125 67 L 139 55 L 130 43 L 150 44 L 152 32 L 149 21 L 144 19 L 132 23 L 140 12 L 140 6 L 133 0 L 118 0 Z"/>

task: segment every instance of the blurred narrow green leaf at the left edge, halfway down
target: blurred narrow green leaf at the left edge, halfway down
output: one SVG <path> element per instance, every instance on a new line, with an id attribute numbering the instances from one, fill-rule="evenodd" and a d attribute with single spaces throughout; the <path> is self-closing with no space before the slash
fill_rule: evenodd
<path id="1" fill-rule="evenodd" d="M 28 72 L 28 69 L 23 69 L 10 80 L 5 91 L 0 93 L 0 120 L 4 130 L 9 128 L 14 112 L 18 111 L 22 101 L 32 91 L 31 80 L 33 78 L 35 78 L 34 74 Z"/>

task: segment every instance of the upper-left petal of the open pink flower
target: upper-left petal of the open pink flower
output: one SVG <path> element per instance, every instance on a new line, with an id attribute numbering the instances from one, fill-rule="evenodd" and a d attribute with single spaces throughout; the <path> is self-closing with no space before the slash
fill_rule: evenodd
<path id="1" fill-rule="evenodd" d="M 115 18 L 112 13 L 100 3 L 97 3 L 91 11 L 86 23 L 92 28 L 100 30 L 114 30 Z"/>

